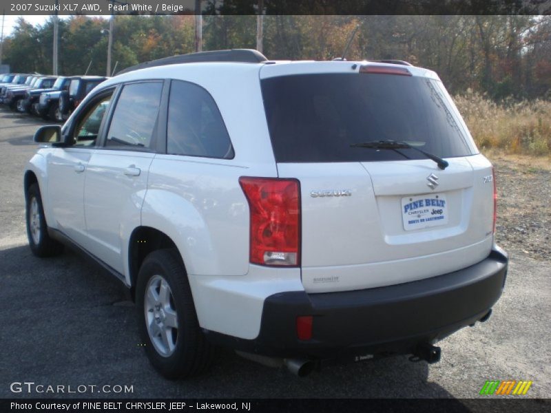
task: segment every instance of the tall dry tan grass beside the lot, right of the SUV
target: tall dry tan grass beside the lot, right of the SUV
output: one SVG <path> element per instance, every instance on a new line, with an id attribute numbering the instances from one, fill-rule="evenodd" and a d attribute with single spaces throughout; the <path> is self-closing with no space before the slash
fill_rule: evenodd
<path id="1" fill-rule="evenodd" d="M 454 100 L 481 151 L 551 156 L 551 101 L 497 104 L 470 90 Z"/>

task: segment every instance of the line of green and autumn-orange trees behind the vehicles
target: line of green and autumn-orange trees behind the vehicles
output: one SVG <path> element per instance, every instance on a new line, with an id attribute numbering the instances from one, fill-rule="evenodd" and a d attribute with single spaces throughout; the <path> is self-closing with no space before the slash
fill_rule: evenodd
<path id="1" fill-rule="evenodd" d="M 114 17 L 112 66 L 194 52 L 191 15 Z M 255 48 L 257 19 L 204 15 L 202 50 Z M 105 74 L 105 19 L 59 21 L 59 72 Z M 24 18 L 4 39 L 3 63 L 12 72 L 51 73 L 53 18 L 33 26 Z M 550 16 L 290 16 L 264 17 L 269 59 L 326 60 L 341 56 L 359 26 L 347 59 L 399 59 L 435 70 L 452 94 L 468 89 L 494 100 L 551 98 Z"/>

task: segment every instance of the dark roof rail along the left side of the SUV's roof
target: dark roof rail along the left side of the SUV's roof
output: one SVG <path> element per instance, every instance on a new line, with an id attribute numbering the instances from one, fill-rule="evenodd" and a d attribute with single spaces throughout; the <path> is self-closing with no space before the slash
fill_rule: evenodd
<path id="1" fill-rule="evenodd" d="M 253 49 L 231 49 L 231 50 L 213 50 L 211 52 L 196 52 L 188 54 L 176 54 L 175 56 L 165 57 L 154 61 L 138 63 L 137 65 L 127 67 L 118 74 L 133 72 L 146 67 L 175 65 L 178 63 L 197 63 L 197 62 L 240 62 L 240 63 L 262 63 L 267 61 L 264 54 Z M 118 75 L 117 74 L 117 75 Z"/>

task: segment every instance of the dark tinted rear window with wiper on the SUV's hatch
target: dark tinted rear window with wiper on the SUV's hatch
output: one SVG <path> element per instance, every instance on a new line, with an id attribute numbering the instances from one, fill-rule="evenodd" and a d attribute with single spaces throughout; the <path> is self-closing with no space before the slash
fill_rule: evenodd
<path id="1" fill-rule="evenodd" d="M 353 143 L 399 140 L 443 158 L 472 155 L 439 81 L 392 74 L 307 74 L 262 80 L 277 162 L 425 159 L 413 149 Z"/>

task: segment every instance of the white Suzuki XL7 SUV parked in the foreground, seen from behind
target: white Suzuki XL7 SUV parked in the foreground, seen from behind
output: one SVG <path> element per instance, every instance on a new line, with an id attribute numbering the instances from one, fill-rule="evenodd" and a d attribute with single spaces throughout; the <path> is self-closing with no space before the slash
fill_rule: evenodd
<path id="1" fill-rule="evenodd" d="M 438 76 L 405 62 L 174 56 L 35 135 L 30 247 L 132 291 L 169 378 L 214 344 L 304 375 L 486 321 L 506 279 L 495 180 Z"/>

